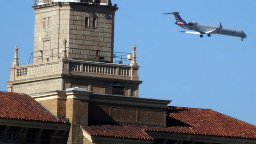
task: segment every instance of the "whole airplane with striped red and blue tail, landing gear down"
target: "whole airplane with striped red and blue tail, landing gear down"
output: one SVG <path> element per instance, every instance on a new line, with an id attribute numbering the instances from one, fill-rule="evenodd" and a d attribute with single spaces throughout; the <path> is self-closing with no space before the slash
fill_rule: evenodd
<path id="1" fill-rule="evenodd" d="M 207 24 L 199 24 L 196 21 L 186 22 L 182 20 L 182 18 L 179 15 L 179 12 L 169 12 L 164 14 L 173 14 L 175 17 L 175 24 L 178 26 L 188 29 L 188 30 L 194 30 L 194 31 L 178 31 L 178 32 L 185 32 L 189 34 L 200 34 L 200 38 L 203 37 L 203 34 L 207 34 L 208 37 L 211 36 L 211 34 L 222 34 L 227 36 L 236 36 L 240 37 L 243 41 L 243 38 L 246 38 L 246 34 L 242 30 L 237 30 L 233 28 L 224 28 L 222 27 L 221 23 L 220 26 L 211 26 Z"/>

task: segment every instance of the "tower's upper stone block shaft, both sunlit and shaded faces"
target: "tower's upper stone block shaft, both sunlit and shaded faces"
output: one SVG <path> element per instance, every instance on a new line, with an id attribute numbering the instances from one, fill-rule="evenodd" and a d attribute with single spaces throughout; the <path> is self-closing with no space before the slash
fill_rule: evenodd
<path id="1" fill-rule="evenodd" d="M 61 2 L 33 8 L 34 63 L 58 60 L 64 38 L 69 59 L 113 62 L 116 7 Z"/>

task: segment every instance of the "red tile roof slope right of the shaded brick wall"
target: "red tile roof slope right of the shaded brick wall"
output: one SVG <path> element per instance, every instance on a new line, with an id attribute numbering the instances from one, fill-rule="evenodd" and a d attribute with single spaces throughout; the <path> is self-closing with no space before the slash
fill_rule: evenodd
<path id="1" fill-rule="evenodd" d="M 256 126 L 210 109 L 169 106 L 168 128 L 154 130 L 256 139 Z"/>

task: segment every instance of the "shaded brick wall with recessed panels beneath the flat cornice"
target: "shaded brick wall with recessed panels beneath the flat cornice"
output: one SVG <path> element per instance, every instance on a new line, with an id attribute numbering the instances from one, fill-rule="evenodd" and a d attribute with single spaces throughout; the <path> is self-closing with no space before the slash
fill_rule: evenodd
<path id="1" fill-rule="evenodd" d="M 90 102 L 89 124 L 116 122 L 166 126 L 166 109 Z"/>

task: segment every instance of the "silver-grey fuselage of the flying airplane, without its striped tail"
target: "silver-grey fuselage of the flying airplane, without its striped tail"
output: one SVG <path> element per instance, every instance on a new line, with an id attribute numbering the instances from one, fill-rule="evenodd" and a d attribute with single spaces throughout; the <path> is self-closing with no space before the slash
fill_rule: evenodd
<path id="1" fill-rule="evenodd" d="M 179 25 L 180 26 L 180 25 Z M 207 24 L 196 24 L 194 26 L 181 26 L 182 28 L 189 29 L 189 30 L 194 30 L 196 32 L 200 32 L 201 34 L 205 34 L 209 30 L 213 30 L 215 28 L 218 28 L 218 26 L 211 26 Z M 219 32 L 217 33 L 212 33 L 212 34 L 223 34 L 227 36 L 236 36 L 240 38 L 246 38 L 246 34 L 242 30 L 237 30 L 234 28 L 222 28 Z"/>

